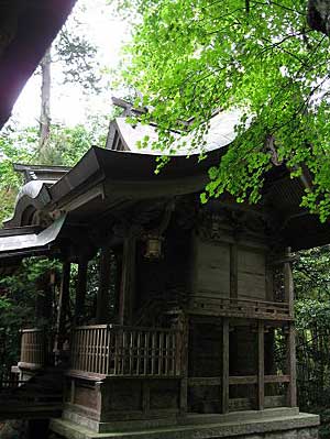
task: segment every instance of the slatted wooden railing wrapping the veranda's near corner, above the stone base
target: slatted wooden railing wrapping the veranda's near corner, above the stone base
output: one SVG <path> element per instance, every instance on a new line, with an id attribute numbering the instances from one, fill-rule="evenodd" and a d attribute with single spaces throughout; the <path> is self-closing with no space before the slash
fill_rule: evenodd
<path id="1" fill-rule="evenodd" d="M 180 332 L 172 329 L 81 326 L 74 330 L 75 371 L 111 376 L 179 376 Z"/>

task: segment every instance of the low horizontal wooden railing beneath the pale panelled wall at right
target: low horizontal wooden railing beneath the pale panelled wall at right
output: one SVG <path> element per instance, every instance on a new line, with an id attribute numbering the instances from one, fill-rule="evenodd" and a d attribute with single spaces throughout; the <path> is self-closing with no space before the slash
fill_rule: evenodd
<path id="1" fill-rule="evenodd" d="M 191 297 L 189 312 L 270 320 L 293 319 L 289 305 L 286 303 L 204 295 Z"/>

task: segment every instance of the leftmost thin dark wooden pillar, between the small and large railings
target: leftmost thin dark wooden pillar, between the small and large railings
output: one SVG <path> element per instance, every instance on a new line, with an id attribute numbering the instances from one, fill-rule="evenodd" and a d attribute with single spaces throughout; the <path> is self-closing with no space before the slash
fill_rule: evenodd
<path id="1" fill-rule="evenodd" d="M 63 343 L 66 337 L 65 320 L 69 305 L 69 284 L 70 284 L 70 263 L 64 262 L 62 268 L 62 282 L 58 299 L 58 314 L 57 314 L 57 342 L 56 351 L 63 349 Z"/>

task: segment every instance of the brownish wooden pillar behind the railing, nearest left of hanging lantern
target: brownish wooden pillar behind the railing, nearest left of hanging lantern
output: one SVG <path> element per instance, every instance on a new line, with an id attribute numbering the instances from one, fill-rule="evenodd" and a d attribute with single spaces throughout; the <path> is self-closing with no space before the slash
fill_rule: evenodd
<path id="1" fill-rule="evenodd" d="M 136 239 L 129 232 L 124 239 L 121 287 L 119 298 L 119 321 L 120 325 L 131 325 L 134 309 L 134 284 L 135 284 L 135 253 Z"/>

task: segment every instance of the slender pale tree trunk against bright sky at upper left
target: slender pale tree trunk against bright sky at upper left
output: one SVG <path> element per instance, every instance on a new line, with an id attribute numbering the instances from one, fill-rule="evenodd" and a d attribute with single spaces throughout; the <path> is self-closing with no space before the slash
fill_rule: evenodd
<path id="1" fill-rule="evenodd" d="M 38 140 L 40 151 L 46 146 L 51 130 L 51 48 L 48 48 L 41 62 L 42 89 Z"/>

